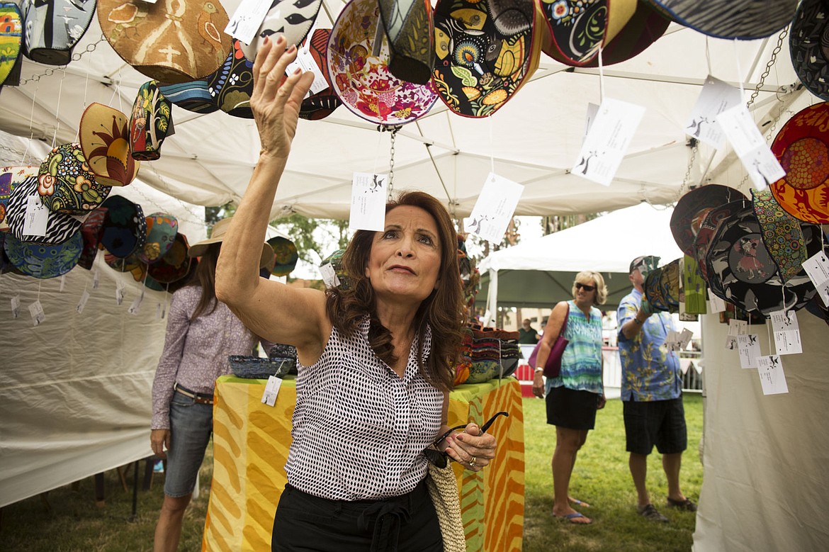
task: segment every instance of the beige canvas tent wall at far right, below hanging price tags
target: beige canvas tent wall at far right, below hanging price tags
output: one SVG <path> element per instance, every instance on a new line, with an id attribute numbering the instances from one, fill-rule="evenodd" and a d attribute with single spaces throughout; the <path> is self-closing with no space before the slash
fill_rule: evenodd
<path id="1" fill-rule="evenodd" d="M 829 550 L 827 325 L 797 312 L 802 355 L 781 356 L 788 394 L 763 395 L 757 370 L 725 348 L 716 315 L 702 324 L 705 424 L 695 552 Z M 753 326 L 762 354 L 768 327 Z M 691 449 L 689 449 L 691 452 Z M 697 462 L 687 454 L 685 462 Z"/>

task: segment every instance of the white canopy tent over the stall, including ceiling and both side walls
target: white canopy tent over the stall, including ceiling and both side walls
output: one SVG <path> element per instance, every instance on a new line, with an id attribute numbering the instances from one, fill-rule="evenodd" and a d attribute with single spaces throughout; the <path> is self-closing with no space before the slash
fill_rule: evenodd
<path id="1" fill-rule="evenodd" d="M 232 13 L 239 0 L 224 0 L 222 4 Z M 325 0 L 321 26 L 330 24 L 341 7 L 340 2 Z M 747 101 L 755 88 L 759 90 L 751 99 L 750 110 L 769 140 L 793 113 L 816 102 L 797 84 L 786 40 L 781 42 L 777 63 L 762 76 L 775 46 L 776 36 L 759 41 L 724 41 L 671 24 L 666 35 L 642 54 L 604 70 L 569 68 L 542 56 L 531 82 L 492 118 L 464 119 L 450 114 L 439 102 L 423 119 L 402 128 L 395 143 L 394 186 L 429 191 L 445 201 L 458 218 L 472 211 L 490 171 L 525 186 L 517 215 L 613 211 L 642 201 L 665 205 L 676 201 L 683 182 L 699 182 L 703 173 L 707 181 L 747 192 L 744 171 L 732 150 L 713 153 L 701 147 L 695 153 L 687 146 L 685 123 L 706 75 L 742 86 Z M 148 80 L 124 64 L 101 39 L 96 21 L 75 53 L 79 59 L 65 69 L 25 61 L 22 85 L 3 87 L 3 165 L 39 163 L 52 143 L 75 140 L 80 115 L 91 102 L 128 111 L 138 87 Z M 584 135 L 588 104 L 599 104 L 603 97 L 647 109 L 608 187 L 570 174 Z M 172 197 L 174 205 L 179 201 L 199 206 L 238 201 L 259 151 L 252 121 L 221 112 L 192 114 L 179 108 L 174 108 L 173 119 L 176 133 L 164 143 L 162 158 L 143 163 L 139 182 L 124 193 L 153 197 L 153 192 L 143 186 L 147 184 Z M 387 172 L 389 148 L 390 133 L 378 133 L 375 124 L 356 118 L 346 108 L 337 109 L 322 121 L 300 121 L 272 213 L 346 218 L 352 173 Z M 142 199 L 133 197 L 133 201 Z M 667 235 L 667 227 L 663 231 Z M 598 261 L 608 251 L 590 253 L 592 257 L 578 258 L 574 270 L 588 268 L 589 260 Z M 640 253 L 637 250 L 633 255 Z M 630 257 L 626 255 L 624 262 L 628 263 Z M 671 255 L 666 254 L 668 257 Z M 593 266 L 602 269 L 598 263 Z M 627 271 L 626 264 L 620 266 Z M 502 269 L 507 265 L 496 268 Z M 604 270 L 613 274 L 612 269 Z M 109 303 L 114 299 L 103 296 L 90 299 L 87 306 L 90 312 L 97 312 L 94 321 L 78 320 L 72 314 L 75 295 L 88 278 L 83 272 L 75 276 L 79 270 L 73 270 L 67 278 L 73 293 L 69 299 L 51 289 L 57 286 L 54 281 L 0 277 L 0 296 L 19 293 L 23 317 L 27 316 L 25 306 L 39 293 L 47 315 L 41 327 L 32 328 L 26 319 L 11 320 L 8 310 L 2 314 L 0 330 L 12 338 L 3 346 L 0 375 L 28 375 L 28 379 L 22 386 L 0 380 L 0 390 L 7 388 L 3 397 L 17 397 L 14 403 L 0 402 L 4 421 L 0 506 L 148 454 L 148 385 L 161 347 L 163 324 L 153 322 L 152 309 L 141 314 L 147 318 L 146 323 L 138 323 L 141 317 L 131 320 L 133 315 L 124 312 L 125 307 L 112 312 Z M 107 274 L 106 270 L 112 272 L 104 267 L 102 274 Z M 109 275 L 106 293 L 114 288 L 116 276 Z M 47 289 L 51 291 L 46 293 Z M 4 302 L 8 305 L 6 299 Z M 53 325 L 56 322 L 61 325 Z M 95 332 L 106 334 L 95 351 L 88 340 L 98 333 L 77 330 L 89 323 Z M 153 323 L 156 326 L 148 331 Z M 829 487 L 829 472 L 821 468 L 829 436 L 822 431 L 820 417 L 814 415 L 821 411 L 827 391 L 825 375 L 814 372 L 827 364 L 820 341 L 825 335 L 821 324 L 816 319 L 806 322 L 804 354 L 791 363 L 795 370 L 789 395 L 760 395 L 754 370 L 739 370 L 735 355 L 712 356 L 721 361 L 716 369 L 723 377 L 707 383 L 708 393 L 716 396 L 717 402 L 715 409 L 706 409 L 705 414 L 706 448 L 713 452 L 705 460 L 695 550 L 829 548 L 829 533 L 819 517 L 829 506 L 823 492 Z M 725 334 L 719 324 L 712 323 L 708 328 L 715 336 Z M 764 332 L 761 329 L 759 333 Z M 56 336 L 60 340 L 56 341 Z M 715 342 L 715 338 L 705 335 L 705 342 Z M 46 356 L 39 351 L 56 352 Z M 7 370 L 12 365 L 13 372 Z M 714 370 L 712 366 L 709 360 L 706 373 Z M 91 371 L 86 374 L 86 370 Z M 67 392 L 63 388 L 65 375 L 74 375 L 78 382 L 89 385 Z M 739 379 L 734 380 L 738 375 Z M 749 377 L 754 378 L 753 382 Z M 733 385 L 739 386 L 739 393 L 732 392 Z M 89 392 L 92 387 L 97 390 L 94 395 Z M 36 399 L 29 395 L 44 388 L 49 393 L 38 393 Z M 58 419 L 60 415 L 73 416 L 90 397 L 103 401 L 95 419 L 88 417 L 88 410 L 86 414 Z M 11 404 L 19 408 L 9 409 Z M 738 406 L 746 404 L 752 409 L 740 411 Z M 60 409 L 52 409 L 55 405 Z M 768 405 L 777 406 L 764 409 Z M 778 408 L 780 405 L 784 409 Z M 25 424 L 32 424 L 28 426 L 32 429 L 29 438 L 10 443 L 7 429 Z M 59 465 L 41 462 L 40 455 L 46 449 L 60 449 L 65 443 L 61 439 L 67 434 L 85 436 L 96 445 L 77 454 L 66 448 L 65 462 Z M 765 439 L 759 454 L 754 453 L 759 450 L 754 445 L 757 438 Z M 55 444 L 47 446 L 47 439 Z M 124 453 L 105 453 L 117 442 L 128 443 L 120 449 Z M 15 448 L 13 454 L 11 448 Z M 27 464 L 31 470 L 26 469 Z M 764 484 L 758 484 L 759 480 Z"/>

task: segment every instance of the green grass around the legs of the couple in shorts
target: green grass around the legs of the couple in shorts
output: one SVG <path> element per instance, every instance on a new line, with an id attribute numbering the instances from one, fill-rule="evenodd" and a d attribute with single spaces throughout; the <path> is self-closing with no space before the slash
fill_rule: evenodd
<path id="1" fill-rule="evenodd" d="M 702 486 L 702 465 L 697 452 L 702 435 L 701 396 L 686 395 L 685 407 L 688 449 L 682 456 L 680 482 L 685 495 L 696 502 Z M 582 511 L 593 519 L 592 525 L 574 525 L 552 517 L 550 459 L 555 448 L 555 427 L 546 424 L 543 400 L 524 399 L 524 436 L 525 552 L 691 550 L 695 515 L 664 506 L 667 481 L 662 472 L 662 456 L 656 450 L 648 458 L 647 488 L 653 504 L 671 521 L 647 521 L 636 512 L 621 401 L 609 400 L 604 411 L 599 410 L 596 429 L 588 434 L 579 451 L 570 480 L 570 496 L 590 504 Z"/>

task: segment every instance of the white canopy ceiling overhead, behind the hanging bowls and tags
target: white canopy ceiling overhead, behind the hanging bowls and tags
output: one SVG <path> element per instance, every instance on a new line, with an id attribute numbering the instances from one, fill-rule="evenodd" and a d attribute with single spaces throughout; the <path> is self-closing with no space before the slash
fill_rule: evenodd
<path id="1" fill-rule="evenodd" d="M 232 13 L 238 0 L 224 0 Z M 340 2 L 327 0 L 327 12 Z M 395 143 L 394 187 L 419 188 L 468 215 L 488 172 L 526 186 L 517 215 L 611 211 L 640 201 L 676 200 L 686 180 L 691 148 L 684 125 L 708 74 L 734 85 L 744 83 L 746 99 L 759 83 L 777 37 L 724 41 L 671 24 L 665 36 L 633 60 L 604 70 L 570 68 L 542 55 L 541 67 L 514 99 L 489 119 L 450 114 L 440 101 L 427 116 L 400 130 Z M 783 40 L 778 62 L 751 106 L 755 119 L 774 119 L 783 106 L 788 119 L 809 101 Z M 65 70 L 26 60 L 24 84 L 0 94 L 0 129 L 24 138 L 74 140 L 80 114 L 98 101 L 128 111 L 138 86 L 148 80 L 102 40 L 95 20 Z M 47 74 L 48 73 L 48 74 Z M 642 104 L 647 112 L 611 186 L 570 175 L 579 153 L 589 103 L 604 96 Z M 255 125 L 222 112 L 193 114 L 175 107 L 176 133 L 162 158 L 145 162 L 139 177 L 183 201 L 221 205 L 244 194 L 259 151 Z M 776 125 L 779 128 L 782 122 Z M 772 135 L 773 138 L 773 135 Z M 21 147 L 26 149 L 25 146 Z M 30 148 L 31 150 L 32 148 Z M 14 150 L 14 151 L 12 151 Z M 347 218 L 353 172 L 388 172 L 390 133 L 342 107 L 321 121 L 300 121 L 274 215 L 298 212 Z M 744 172 L 728 151 L 705 147 L 694 158 L 689 182 L 710 163 L 716 182 L 745 187 Z M 0 150 L 2 162 L 20 162 L 17 148 Z M 35 159 L 35 162 L 39 159 Z"/>

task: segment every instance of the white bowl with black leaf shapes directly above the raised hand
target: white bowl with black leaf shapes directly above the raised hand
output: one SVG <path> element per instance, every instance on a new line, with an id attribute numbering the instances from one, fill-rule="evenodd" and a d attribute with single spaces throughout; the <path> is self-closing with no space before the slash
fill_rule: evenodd
<path id="1" fill-rule="evenodd" d="M 297 46 L 311 31 L 321 6 L 322 0 L 273 0 L 254 39 L 250 44 L 241 45 L 245 57 L 251 63 L 256 61 L 256 53 L 262 48 L 264 37 L 276 33 L 285 37 L 288 46 Z"/>

